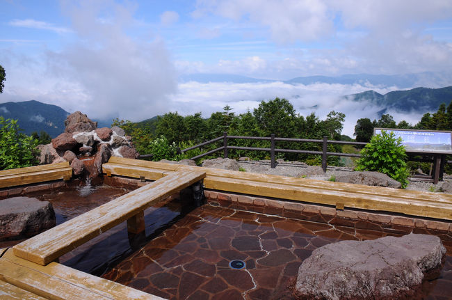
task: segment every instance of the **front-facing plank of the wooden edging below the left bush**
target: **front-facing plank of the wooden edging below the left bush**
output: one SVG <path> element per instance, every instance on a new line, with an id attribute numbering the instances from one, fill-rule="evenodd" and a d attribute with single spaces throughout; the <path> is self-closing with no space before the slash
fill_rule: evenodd
<path id="1" fill-rule="evenodd" d="M 15 187 L 23 184 L 60 180 L 72 176 L 72 168 L 58 168 L 56 170 L 21 173 L 0 177 L 0 188 Z"/>

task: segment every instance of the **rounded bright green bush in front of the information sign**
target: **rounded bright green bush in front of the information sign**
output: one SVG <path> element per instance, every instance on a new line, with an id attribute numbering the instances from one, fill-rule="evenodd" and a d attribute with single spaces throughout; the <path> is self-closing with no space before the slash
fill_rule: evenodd
<path id="1" fill-rule="evenodd" d="M 357 161 L 357 171 L 377 171 L 385 173 L 402 184 L 408 184 L 405 146 L 402 139 L 396 139 L 394 132 L 385 132 L 373 136 L 370 143 L 361 150 L 362 158 Z"/>

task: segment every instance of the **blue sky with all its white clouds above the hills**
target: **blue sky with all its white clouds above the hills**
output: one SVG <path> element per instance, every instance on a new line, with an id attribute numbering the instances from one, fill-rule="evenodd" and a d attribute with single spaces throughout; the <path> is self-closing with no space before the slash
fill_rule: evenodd
<path id="1" fill-rule="evenodd" d="M 339 97 L 397 86 L 282 81 L 434 72 L 445 79 L 423 86 L 452 85 L 450 0 L 0 0 L 0 8 L 0 103 L 38 100 L 90 118 L 138 121 L 168 111 L 208 117 L 226 104 L 243 113 L 286 97 L 303 115 L 312 106 L 321 118 L 346 113 L 344 132 L 352 135 L 357 118 L 380 108 Z M 178 80 L 195 73 L 278 81 Z"/>

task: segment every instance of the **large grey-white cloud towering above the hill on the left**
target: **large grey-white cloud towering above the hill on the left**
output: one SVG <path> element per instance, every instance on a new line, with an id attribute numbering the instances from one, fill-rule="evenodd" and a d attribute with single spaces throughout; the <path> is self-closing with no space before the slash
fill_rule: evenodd
<path id="1" fill-rule="evenodd" d="M 129 37 L 134 7 L 102 3 L 63 3 L 79 39 L 61 50 L 35 56 L 0 52 L 8 73 L 3 101 L 33 99 L 90 118 L 143 120 L 165 113 L 166 95 L 177 88 L 165 43 Z"/>

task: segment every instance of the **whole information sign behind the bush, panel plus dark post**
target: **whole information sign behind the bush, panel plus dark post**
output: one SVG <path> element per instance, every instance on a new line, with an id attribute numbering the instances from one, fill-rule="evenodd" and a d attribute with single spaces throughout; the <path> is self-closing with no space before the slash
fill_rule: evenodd
<path id="1" fill-rule="evenodd" d="M 394 132 L 396 138 L 402 138 L 402 144 L 410 155 L 433 155 L 433 182 L 442 179 L 446 155 L 452 155 L 452 132 L 435 130 L 375 128 L 373 134 L 382 130 Z"/>

